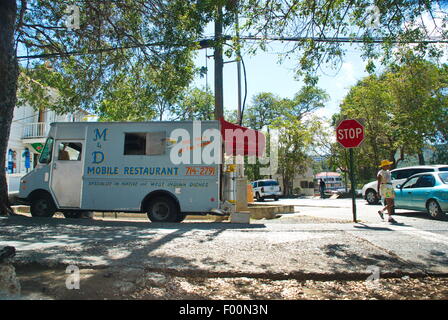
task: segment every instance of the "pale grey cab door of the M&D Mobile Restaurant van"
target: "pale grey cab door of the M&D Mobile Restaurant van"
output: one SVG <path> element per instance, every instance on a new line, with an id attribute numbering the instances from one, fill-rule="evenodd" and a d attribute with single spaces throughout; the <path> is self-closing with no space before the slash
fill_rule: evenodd
<path id="1" fill-rule="evenodd" d="M 80 207 L 83 143 L 82 140 L 56 140 L 51 189 L 59 207 Z"/>

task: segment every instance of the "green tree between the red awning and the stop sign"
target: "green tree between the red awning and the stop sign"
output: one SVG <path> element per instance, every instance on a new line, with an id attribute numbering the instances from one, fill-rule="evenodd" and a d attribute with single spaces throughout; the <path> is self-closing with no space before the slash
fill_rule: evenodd
<path id="1" fill-rule="evenodd" d="M 260 93 L 252 99 L 243 123 L 255 130 L 267 128 L 267 151 L 270 130 L 279 130 L 279 174 L 283 178 L 284 192 L 292 192 L 289 186 L 293 177 L 308 167 L 310 151 L 323 147 L 325 139 L 322 137 L 327 131 L 312 112 L 324 107 L 327 100 L 326 92 L 315 86 L 302 87 L 293 99 L 282 99 L 272 93 Z M 252 164 L 246 159 L 248 178 L 262 178 L 261 167 L 258 161 Z"/>

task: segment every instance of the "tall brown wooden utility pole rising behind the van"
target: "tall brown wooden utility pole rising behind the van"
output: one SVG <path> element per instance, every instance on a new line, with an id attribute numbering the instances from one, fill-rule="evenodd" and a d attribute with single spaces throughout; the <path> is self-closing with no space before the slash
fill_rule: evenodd
<path id="1" fill-rule="evenodd" d="M 222 6 L 218 4 L 215 20 L 215 119 L 224 116 L 223 58 L 222 58 Z"/>

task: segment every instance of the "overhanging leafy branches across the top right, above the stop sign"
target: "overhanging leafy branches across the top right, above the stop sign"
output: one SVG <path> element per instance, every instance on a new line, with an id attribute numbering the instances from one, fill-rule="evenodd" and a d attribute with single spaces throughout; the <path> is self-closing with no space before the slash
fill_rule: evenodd
<path id="1" fill-rule="evenodd" d="M 311 83 L 322 64 L 342 61 L 351 41 L 361 43 L 371 70 L 375 62 L 390 63 L 409 42 L 415 42 L 414 52 L 440 57 L 442 49 L 425 40 L 447 39 L 447 10 L 443 1 L 433 0 L 247 0 L 240 6 L 243 31 L 263 39 L 252 51 L 266 50 L 272 37 L 297 39 L 288 42 L 285 53 Z"/>

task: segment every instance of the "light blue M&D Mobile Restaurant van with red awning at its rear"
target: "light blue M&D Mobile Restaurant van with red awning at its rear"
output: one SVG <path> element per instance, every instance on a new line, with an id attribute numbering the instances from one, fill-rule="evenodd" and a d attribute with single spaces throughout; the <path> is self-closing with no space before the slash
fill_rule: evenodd
<path id="1" fill-rule="evenodd" d="M 52 123 L 38 165 L 21 179 L 19 199 L 33 217 L 110 211 L 180 222 L 188 214 L 226 214 L 237 191 L 223 151 L 238 139 L 222 139 L 224 127 L 243 128 L 223 119 Z M 259 152 L 262 139 L 256 132 L 256 141 L 246 139 L 240 149 L 247 154 L 255 143 Z"/>

